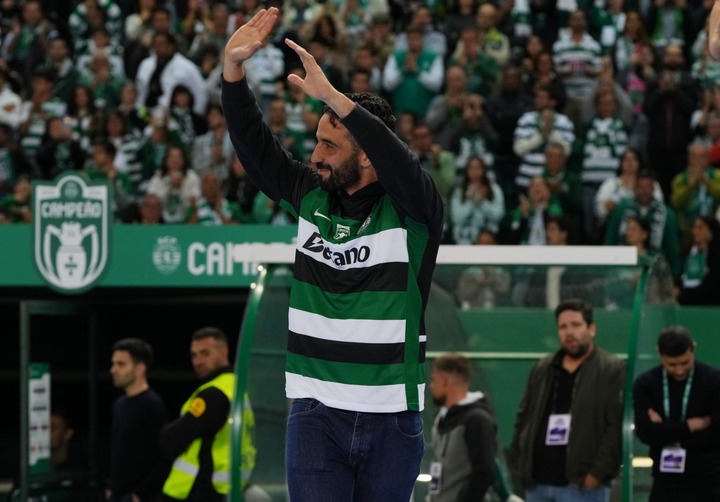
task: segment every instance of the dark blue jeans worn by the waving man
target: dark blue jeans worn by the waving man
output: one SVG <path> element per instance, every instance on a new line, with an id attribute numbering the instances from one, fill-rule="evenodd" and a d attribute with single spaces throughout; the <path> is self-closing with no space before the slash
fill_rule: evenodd
<path id="1" fill-rule="evenodd" d="M 416 411 L 361 413 L 295 399 L 285 461 L 292 502 L 407 502 L 425 449 Z"/>

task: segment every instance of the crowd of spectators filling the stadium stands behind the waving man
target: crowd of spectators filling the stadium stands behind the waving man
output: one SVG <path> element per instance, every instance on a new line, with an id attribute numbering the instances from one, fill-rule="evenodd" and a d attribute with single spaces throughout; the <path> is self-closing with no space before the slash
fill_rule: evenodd
<path id="1" fill-rule="evenodd" d="M 445 243 L 633 245 L 700 288 L 688 302 L 720 303 L 711 1 L 269 2 L 280 21 L 246 74 L 295 158 L 322 103 L 288 85 L 304 70 L 285 38 L 390 102 L 445 199 Z M 265 6 L 0 2 L 0 221 L 29 223 L 31 182 L 79 171 L 110 181 L 118 223 L 294 223 L 220 105 L 225 43 Z"/>

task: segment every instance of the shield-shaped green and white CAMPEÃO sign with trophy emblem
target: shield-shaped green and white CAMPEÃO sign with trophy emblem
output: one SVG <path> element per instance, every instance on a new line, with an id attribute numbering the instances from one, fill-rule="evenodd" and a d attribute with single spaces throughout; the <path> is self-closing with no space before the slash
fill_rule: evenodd
<path id="1" fill-rule="evenodd" d="M 35 264 L 55 289 L 79 293 L 100 277 L 108 257 L 109 188 L 76 174 L 33 187 Z"/>

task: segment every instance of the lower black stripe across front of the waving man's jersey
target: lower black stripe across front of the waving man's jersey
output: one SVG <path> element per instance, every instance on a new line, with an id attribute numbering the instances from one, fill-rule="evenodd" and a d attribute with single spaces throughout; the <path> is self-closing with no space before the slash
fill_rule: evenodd
<path id="1" fill-rule="evenodd" d="M 337 342 L 292 331 L 288 332 L 288 350 L 301 356 L 338 363 L 402 364 L 405 359 L 404 343 Z"/>

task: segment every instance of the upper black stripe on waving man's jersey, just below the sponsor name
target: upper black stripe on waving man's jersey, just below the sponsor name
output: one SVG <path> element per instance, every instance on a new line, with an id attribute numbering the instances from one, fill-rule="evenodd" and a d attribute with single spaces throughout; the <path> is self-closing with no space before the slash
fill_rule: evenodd
<path id="1" fill-rule="evenodd" d="M 406 291 L 407 263 L 381 263 L 372 267 L 338 270 L 295 252 L 295 278 L 328 293 Z"/>

